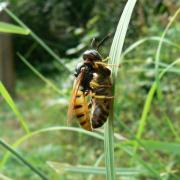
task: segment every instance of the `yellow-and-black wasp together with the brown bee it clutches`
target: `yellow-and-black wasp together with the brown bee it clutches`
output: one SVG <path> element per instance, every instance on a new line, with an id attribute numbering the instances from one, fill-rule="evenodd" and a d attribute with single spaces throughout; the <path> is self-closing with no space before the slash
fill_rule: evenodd
<path id="1" fill-rule="evenodd" d="M 98 47 L 104 40 L 105 38 Z M 92 131 L 94 128 L 101 127 L 109 115 L 113 98 L 111 70 L 103 62 L 98 51 L 91 49 L 83 53 L 83 62 L 77 65 L 74 75 L 76 78 L 68 109 L 68 119 L 71 119 L 74 111 L 80 125 Z"/>

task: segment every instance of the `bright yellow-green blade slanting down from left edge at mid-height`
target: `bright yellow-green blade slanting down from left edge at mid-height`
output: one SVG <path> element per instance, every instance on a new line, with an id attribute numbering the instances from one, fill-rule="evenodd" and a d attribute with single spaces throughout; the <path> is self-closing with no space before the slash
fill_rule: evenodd
<path id="1" fill-rule="evenodd" d="M 1 81 L 0 81 L 0 94 L 3 96 L 3 98 L 5 99 L 7 104 L 9 105 L 9 107 L 15 113 L 15 115 L 18 118 L 22 128 L 25 130 L 26 133 L 29 133 L 30 131 L 29 131 L 29 128 L 28 128 L 26 121 L 24 120 L 23 116 L 21 115 L 18 108 L 16 107 L 16 104 L 14 103 L 13 99 L 11 98 L 10 94 L 8 93 L 8 91 L 6 90 L 6 88 L 4 87 L 4 85 Z"/>

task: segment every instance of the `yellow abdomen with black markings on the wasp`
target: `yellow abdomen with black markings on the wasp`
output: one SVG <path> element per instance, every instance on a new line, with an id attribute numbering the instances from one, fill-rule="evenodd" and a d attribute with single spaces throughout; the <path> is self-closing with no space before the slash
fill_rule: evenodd
<path id="1" fill-rule="evenodd" d="M 79 124 L 86 130 L 92 131 L 88 103 L 82 91 L 78 91 L 74 104 L 74 111 Z"/>

